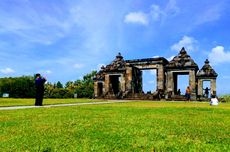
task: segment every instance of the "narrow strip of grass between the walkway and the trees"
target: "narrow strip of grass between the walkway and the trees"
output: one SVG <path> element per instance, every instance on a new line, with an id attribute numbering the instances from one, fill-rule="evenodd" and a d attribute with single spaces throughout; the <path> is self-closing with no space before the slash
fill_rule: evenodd
<path id="1" fill-rule="evenodd" d="M 51 104 L 66 104 L 66 103 L 80 103 L 80 102 L 102 102 L 105 100 L 90 100 L 90 99 L 44 99 L 43 105 Z M 0 98 L 0 107 L 7 106 L 32 106 L 35 99 L 20 99 L 20 98 Z"/>

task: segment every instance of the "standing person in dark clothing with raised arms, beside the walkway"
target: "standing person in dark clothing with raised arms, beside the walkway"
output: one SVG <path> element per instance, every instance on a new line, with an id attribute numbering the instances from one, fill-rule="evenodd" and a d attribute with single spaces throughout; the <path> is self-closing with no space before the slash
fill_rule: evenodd
<path id="1" fill-rule="evenodd" d="M 36 98 L 35 98 L 35 106 L 42 106 L 42 100 L 44 95 L 44 83 L 46 79 L 41 77 L 39 73 L 37 73 L 35 79 L 35 87 L 36 87 Z"/>

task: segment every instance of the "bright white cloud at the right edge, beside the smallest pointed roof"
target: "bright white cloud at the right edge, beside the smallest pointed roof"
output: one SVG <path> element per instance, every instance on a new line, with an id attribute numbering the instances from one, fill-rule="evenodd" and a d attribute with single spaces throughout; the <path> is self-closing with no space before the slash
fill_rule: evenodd
<path id="1" fill-rule="evenodd" d="M 230 51 L 225 51 L 223 46 L 216 46 L 209 53 L 208 58 L 212 64 L 230 63 Z"/>

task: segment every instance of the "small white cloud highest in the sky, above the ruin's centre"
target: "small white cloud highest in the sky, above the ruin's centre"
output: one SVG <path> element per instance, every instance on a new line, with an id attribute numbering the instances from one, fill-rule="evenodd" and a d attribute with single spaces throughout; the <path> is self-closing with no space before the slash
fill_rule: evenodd
<path id="1" fill-rule="evenodd" d="M 148 25 L 148 15 L 143 12 L 131 12 L 125 16 L 125 23 Z"/>

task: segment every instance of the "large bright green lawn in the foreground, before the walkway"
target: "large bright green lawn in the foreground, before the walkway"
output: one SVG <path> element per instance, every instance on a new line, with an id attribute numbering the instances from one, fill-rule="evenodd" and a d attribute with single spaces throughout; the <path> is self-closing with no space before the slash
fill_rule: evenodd
<path id="1" fill-rule="evenodd" d="M 229 151 L 230 104 L 129 102 L 0 111 L 0 151 Z"/>

